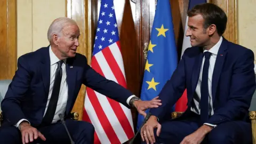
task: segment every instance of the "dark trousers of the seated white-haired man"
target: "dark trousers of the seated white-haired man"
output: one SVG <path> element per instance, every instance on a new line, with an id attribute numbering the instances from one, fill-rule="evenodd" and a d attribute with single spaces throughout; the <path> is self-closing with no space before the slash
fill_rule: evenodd
<path id="1" fill-rule="evenodd" d="M 76 144 L 93 143 L 94 127 L 92 124 L 83 121 L 66 120 L 67 129 Z M 61 123 L 51 124 L 38 128 L 46 141 L 39 137 L 33 143 L 69 143 L 70 140 L 65 127 Z M 20 130 L 15 126 L 0 127 L 0 143 L 2 144 L 18 144 L 22 143 Z"/>

